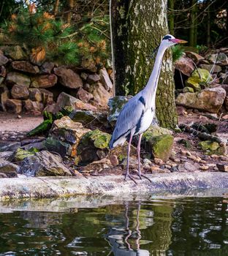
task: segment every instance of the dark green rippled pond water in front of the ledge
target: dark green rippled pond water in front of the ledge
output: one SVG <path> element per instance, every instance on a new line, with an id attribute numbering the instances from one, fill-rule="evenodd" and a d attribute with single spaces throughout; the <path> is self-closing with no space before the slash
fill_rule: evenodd
<path id="1" fill-rule="evenodd" d="M 224 195 L 76 201 L 0 202 L 0 255 L 228 255 Z"/>

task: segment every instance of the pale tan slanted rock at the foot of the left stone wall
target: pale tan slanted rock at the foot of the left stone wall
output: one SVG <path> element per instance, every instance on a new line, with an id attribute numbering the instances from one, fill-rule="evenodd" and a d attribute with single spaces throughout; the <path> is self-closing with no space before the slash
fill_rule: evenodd
<path id="1" fill-rule="evenodd" d="M 66 106 L 71 106 L 74 110 L 96 110 L 96 107 L 94 107 L 93 105 L 84 103 L 80 99 L 72 97 L 65 92 L 61 92 L 61 94 L 58 95 L 54 113 L 58 113 L 61 108 L 64 108 Z"/>

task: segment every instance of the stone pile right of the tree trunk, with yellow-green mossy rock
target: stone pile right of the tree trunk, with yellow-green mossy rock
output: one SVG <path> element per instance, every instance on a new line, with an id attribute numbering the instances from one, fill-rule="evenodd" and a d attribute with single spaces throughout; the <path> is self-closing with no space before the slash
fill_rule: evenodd
<path id="1" fill-rule="evenodd" d="M 177 105 L 209 113 L 228 111 L 228 48 L 212 50 L 205 57 L 186 51 L 175 69 L 186 78 Z"/>

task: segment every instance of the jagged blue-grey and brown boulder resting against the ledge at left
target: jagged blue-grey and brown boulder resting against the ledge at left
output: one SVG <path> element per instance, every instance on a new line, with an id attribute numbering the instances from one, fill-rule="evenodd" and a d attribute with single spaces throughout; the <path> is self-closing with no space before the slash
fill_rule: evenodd
<path id="1" fill-rule="evenodd" d="M 72 176 L 61 157 L 48 151 L 40 151 L 23 159 L 19 173 L 27 176 Z"/>

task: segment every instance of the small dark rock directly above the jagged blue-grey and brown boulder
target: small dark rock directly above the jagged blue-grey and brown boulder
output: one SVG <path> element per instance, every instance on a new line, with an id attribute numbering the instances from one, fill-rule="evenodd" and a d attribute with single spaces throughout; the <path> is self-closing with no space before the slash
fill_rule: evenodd
<path id="1" fill-rule="evenodd" d="M 47 137 L 47 140 L 45 140 L 43 145 L 45 146 L 45 149 L 56 152 L 60 154 L 61 157 L 65 157 L 66 155 L 71 156 L 72 154 L 72 146 L 69 143 L 52 136 Z"/>

